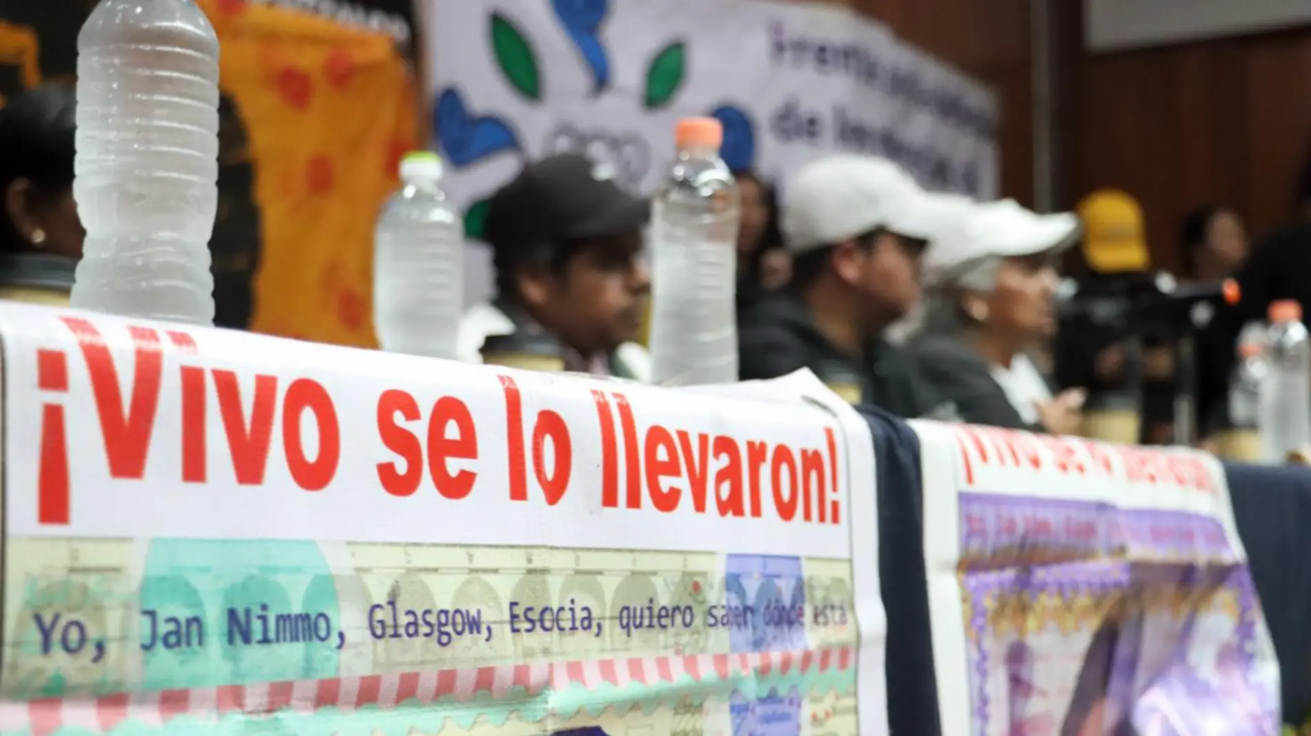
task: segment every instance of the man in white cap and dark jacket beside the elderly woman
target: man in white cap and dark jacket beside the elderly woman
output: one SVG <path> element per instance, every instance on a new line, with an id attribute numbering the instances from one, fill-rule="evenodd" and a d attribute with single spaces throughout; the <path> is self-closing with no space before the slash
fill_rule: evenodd
<path id="1" fill-rule="evenodd" d="M 895 164 L 852 155 L 812 161 L 783 194 L 792 284 L 739 317 L 741 377 L 809 368 L 848 401 L 932 414 L 941 402 L 880 338 L 920 299 L 928 196 Z"/>

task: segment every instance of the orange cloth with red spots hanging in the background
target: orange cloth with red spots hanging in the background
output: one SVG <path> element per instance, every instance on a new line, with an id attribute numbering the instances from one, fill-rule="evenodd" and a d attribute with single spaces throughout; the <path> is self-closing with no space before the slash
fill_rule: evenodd
<path id="1" fill-rule="evenodd" d="M 416 147 L 416 84 L 391 38 L 243 0 L 199 0 L 254 164 L 262 253 L 250 329 L 372 347 L 372 232 Z"/>

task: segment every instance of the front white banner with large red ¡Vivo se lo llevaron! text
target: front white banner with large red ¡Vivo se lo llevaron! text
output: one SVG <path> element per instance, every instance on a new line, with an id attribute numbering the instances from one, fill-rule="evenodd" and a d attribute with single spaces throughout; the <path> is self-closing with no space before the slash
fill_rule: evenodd
<path id="1" fill-rule="evenodd" d="M 886 733 L 839 401 L 12 303 L 0 340 L 0 735 Z"/>

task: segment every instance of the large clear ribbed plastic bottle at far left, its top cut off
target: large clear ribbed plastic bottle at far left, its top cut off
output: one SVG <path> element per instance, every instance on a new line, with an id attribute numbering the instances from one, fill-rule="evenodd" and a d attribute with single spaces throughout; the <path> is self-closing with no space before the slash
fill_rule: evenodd
<path id="1" fill-rule="evenodd" d="M 77 35 L 72 305 L 214 322 L 219 42 L 191 0 L 101 0 Z"/>

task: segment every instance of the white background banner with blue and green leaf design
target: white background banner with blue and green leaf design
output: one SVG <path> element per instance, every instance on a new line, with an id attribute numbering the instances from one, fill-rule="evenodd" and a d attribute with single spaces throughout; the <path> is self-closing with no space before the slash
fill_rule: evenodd
<path id="1" fill-rule="evenodd" d="M 648 193 L 687 115 L 724 123 L 724 160 L 780 185 L 832 152 L 886 156 L 929 189 L 998 194 L 996 103 L 882 25 L 819 3 L 488 0 L 427 9 L 447 191 L 481 232 L 524 160 L 581 151 Z M 476 251 L 469 299 L 486 296 Z"/>

